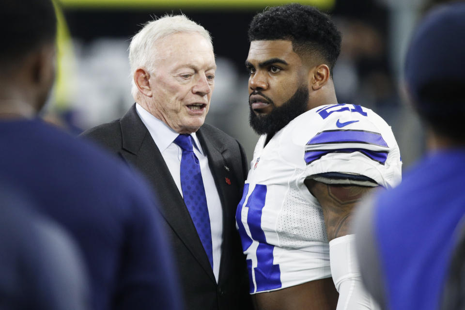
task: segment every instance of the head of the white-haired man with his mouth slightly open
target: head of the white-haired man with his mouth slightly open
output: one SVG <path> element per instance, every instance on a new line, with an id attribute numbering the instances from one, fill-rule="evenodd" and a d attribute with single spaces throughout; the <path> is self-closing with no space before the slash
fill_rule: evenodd
<path id="1" fill-rule="evenodd" d="M 215 85 L 210 34 L 184 15 L 148 22 L 129 47 L 135 101 L 178 133 L 205 121 Z"/>

